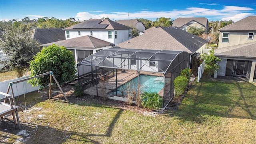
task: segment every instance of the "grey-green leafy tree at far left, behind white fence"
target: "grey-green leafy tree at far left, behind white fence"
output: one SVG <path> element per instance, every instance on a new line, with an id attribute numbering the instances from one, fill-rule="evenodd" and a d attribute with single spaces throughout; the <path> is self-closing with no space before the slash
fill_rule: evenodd
<path id="1" fill-rule="evenodd" d="M 7 56 L 1 61 L 2 69 L 15 70 L 22 77 L 29 66 L 29 61 L 38 52 L 40 43 L 31 38 L 31 31 L 22 31 L 13 25 L 8 25 L 1 32 L 0 50 Z"/>

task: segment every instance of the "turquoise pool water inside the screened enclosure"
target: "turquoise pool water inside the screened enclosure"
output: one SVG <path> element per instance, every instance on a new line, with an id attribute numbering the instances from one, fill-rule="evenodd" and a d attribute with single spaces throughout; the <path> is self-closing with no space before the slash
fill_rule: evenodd
<path id="1" fill-rule="evenodd" d="M 140 92 L 159 92 L 164 87 L 164 78 L 158 76 L 140 75 Z M 120 86 L 117 90 L 127 91 L 127 88 L 138 90 L 138 76 L 130 82 Z"/>

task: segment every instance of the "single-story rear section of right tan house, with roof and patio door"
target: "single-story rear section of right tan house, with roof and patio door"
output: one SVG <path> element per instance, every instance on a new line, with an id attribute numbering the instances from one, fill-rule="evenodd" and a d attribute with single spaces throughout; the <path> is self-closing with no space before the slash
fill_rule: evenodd
<path id="1" fill-rule="evenodd" d="M 214 55 L 222 59 L 217 76 L 245 77 L 256 82 L 256 42 L 218 48 Z"/>

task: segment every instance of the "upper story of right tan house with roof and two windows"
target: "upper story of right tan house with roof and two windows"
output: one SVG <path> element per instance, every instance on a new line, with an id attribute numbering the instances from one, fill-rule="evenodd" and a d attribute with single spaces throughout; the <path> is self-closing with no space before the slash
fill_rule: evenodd
<path id="1" fill-rule="evenodd" d="M 248 16 L 219 29 L 219 48 L 256 42 L 256 16 Z"/>

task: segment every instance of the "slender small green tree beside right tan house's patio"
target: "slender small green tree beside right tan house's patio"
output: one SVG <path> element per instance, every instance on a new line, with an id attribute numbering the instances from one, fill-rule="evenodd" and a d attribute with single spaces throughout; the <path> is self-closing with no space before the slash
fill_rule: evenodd
<path id="1" fill-rule="evenodd" d="M 204 68 L 205 72 L 208 74 L 208 77 L 210 78 L 216 70 L 220 68 L 218 66 L 218 62 L 221 61 L 220 58 L 214 56 L 214 49 L 209 50 L 209 54 L 201 54 L 200 57 L 204 60 L 206 66 Z"/>

